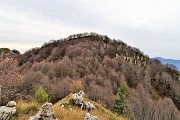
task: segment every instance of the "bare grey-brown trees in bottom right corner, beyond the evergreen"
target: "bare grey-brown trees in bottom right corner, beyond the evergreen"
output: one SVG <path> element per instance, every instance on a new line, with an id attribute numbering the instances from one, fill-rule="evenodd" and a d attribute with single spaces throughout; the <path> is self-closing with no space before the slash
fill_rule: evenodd
<path id="1" fill-rule="evenodd" d="M 153 101 L 142 85 L 131 90 L 130 104 L 134 120 L 179 120 L 180 113 L 169 98 Z"/>

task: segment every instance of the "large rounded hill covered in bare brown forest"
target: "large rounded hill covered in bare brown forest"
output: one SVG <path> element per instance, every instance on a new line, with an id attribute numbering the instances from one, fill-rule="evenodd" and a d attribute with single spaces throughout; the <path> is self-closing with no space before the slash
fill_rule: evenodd
<path id="1" fill-rule="evenodd" d="M 111 109 L 125 81 L 131 118 L 179 119 L 179 72 L 121 40 L 96 33 L 70 35 L 27 51 L 18 64 L 24 83 L 17 91 L 25 96 L 42 86 L 57 102 L 80 88 Z"/>

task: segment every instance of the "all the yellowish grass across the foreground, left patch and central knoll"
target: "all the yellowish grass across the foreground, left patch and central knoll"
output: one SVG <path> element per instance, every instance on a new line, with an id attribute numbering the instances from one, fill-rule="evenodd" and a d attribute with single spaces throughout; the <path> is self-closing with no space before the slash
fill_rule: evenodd
<path id="1" fill-rule="evenodd" d="M 79 107 L 70 105 L 70 103 L 66 108 L 60 107 L 60 103 L 68 103 L 71 100 L 71 96 L 72 94 L 54 104 L 53 109 L 55 117 L 57 117 L 58 120 L 84 120 L 85 111 L 81 110 Z M 88 99 L 85 99 L 85 101 L 88 101 Z M 113 114 L 102 105 L 93 101 L 91 102 L 96 107 L 96 110 L 92 111 L 91 114 L 98 116 L 100 120 L 126 120 L 125 118 Z M 40 104 L 35 102 L 25 103 L 23 101 L 19 101 L 17 102 L 18 112 L 12 120 L 27 120 L 30 116 L 33 116 L 38 112 L 40 106 Z"/>

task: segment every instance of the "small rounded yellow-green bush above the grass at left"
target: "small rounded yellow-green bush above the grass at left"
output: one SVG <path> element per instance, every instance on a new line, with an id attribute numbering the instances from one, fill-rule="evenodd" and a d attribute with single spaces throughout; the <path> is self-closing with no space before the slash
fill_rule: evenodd
<path id="1" fill-rule="evenodd" d="M 38 103 L 44 103 L 48 101 L 49 95 L 43 90 L 42 87 L 39 87 L 37 91 L 35 92 L 34 99 Z"/>

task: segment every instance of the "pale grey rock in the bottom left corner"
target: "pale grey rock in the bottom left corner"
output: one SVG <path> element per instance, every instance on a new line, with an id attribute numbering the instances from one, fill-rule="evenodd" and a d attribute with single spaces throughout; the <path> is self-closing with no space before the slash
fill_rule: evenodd
<path id="1" fill-rule="evenodd" d="M 16 102 L 10 101 L 6 106 L 0 107 L 0 120 L 10 120 L 16 113 Z"/>

